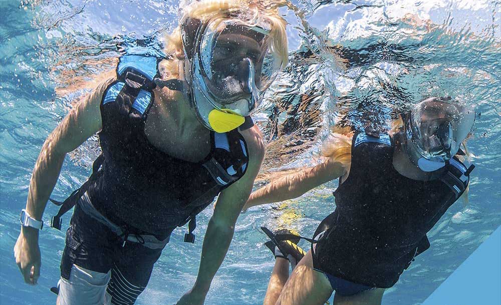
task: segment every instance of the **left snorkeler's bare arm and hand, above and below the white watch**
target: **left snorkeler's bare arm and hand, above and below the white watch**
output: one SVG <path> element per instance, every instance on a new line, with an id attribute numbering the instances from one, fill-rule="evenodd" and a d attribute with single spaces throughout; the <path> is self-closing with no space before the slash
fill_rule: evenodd
<path id="1" fill-rule="evenodd" d="M 63 121 L 47 137 L 38 156 L 30 180 L 26 210 L 40 220 L 47 200 L 56 185 L 67 152 L 82 144 L 101 129 L 100 102 L 107 85 L 102 82 L 91 94 L 70 110 Z M 14 255 L 25 281 L 36 284 L 40 276 L 39 230 L 21 227 Z"/>

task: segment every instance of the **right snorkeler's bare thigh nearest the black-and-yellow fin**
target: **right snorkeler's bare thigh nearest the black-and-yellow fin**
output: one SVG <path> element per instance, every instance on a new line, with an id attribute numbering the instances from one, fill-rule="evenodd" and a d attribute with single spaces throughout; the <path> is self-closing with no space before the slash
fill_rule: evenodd
<path id="1" fill-rule="evenodd" d="M 325 275 L 313 269 L 310 250 L 287 280 L 276 305 L 322 305 L 332 291 Z"/>

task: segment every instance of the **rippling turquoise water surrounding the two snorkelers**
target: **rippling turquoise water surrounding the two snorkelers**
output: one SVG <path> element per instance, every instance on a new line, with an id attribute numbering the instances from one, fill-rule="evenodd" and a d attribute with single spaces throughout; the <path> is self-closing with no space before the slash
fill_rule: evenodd
<path id="1" fill-rule="evenodd" d="M 430 95 L 449 95 L 476 107 L 468 142 L 477 165 L 469 203 L 458 201 L 447 211 L 429 233 L 431 249 L 383 299 L 383 304 L 418 304 L 501 223 L 501 2 L 294 4 L 295 12 L 282 10 L 290 23 L 291 63 L 255 115 L 268 139 L 264 174 L 320 161 L 321 142 L 334 123 L 384 127 L 392 109 L 405 109 Z M 89 91 L 83 81 L 113 67 L 114 36 L 161 37 L 177 22 L 179 5 L 184 2 L 0 1 L 1 303 L 55 302 L 49 287 L 59 278 L 64 234 L 41 233 L 37 286 L 23 283 L 13 258 L 19 211 L 43 141 L 72 102 Z M 72 153 L 53 196 L 63 198 L 85 181 L 96 155 L 95 139 Z M 260 304 L 273 258 L 259 227 L 286 225 L 311 235 L 334 209 L 331 192 L 336 186 L 333 181 L 284 205 L 243 213 L 206 304 Z M 55 213 L 56 207 L 48 205 L 46 222 Z M 173 233 L 137 304 L 172 304 L 191 287 L 210 214 L 207 208 L 197 219 L 194 245 L 182 242 L 184 229 Z"/>

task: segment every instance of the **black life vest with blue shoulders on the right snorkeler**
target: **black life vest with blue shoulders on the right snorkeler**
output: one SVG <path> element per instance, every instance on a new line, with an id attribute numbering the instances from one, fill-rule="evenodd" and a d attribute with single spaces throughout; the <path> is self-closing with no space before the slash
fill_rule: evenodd
<path id="1" fill-rule="evenodd" d="M 317 228 L 314 266 L 356 283 L 391 287 L 429 246 L 426 233 L 464 192 L 469 168 L 454 156 L 420 181 L 393 167 L 393 138 L 357 132 L 348 178 L 334 191 L 336 209 Z"/>

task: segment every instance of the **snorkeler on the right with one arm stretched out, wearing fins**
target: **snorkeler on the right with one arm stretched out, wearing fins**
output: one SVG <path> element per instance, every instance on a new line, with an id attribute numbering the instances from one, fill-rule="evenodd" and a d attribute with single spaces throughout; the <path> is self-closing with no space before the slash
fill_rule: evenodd
<path id="1" fill-rule="evenodd" d="M 340 177 L 336 209 L 305 238 L 312 249 L 290 277 L 297 236 L 263 228 L 277 257 L 264 304 L 320 305 L 333 290 L 334 304 L 380 304 L 384 288 L 430 246 L 426 233 L 467 189 L 474 166 L 462 163 L 459 146 L 474 117 L 459 102 L 425 99 L 389 134 L 333 133 L 325 162 L 253 192 L 244 208 L 299 197 Z"/>

